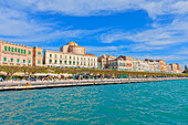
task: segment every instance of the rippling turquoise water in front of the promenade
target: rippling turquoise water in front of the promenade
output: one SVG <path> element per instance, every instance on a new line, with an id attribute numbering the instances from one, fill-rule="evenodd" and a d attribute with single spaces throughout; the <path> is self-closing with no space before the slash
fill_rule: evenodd
<path id="1" fill-rule="evenodd" d="M 1 124 L 188 124 L 188 80 L 0 92 Z"/>

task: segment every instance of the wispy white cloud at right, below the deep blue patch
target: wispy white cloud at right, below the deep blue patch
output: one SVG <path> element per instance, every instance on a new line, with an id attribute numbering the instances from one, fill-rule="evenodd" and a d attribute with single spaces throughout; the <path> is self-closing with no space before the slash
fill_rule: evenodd
<path id="1" fill-rule="evenodd" d="M 188 42 L 188 18 L 176 19 L 170 24 L 155 24 L 153 29 L 140 32 L 111 31 L 101 35 L 103 43 L 134 41 L 145 45 L 163 46 Z"/>

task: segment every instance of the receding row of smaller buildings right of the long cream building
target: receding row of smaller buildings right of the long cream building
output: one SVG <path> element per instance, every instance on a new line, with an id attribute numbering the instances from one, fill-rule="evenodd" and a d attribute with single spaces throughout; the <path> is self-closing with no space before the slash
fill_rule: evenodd
<path id="1" fill-rule="evenodd" d="M 104 55 L 98 58 L 98 62 L 101 62 L 103 65 L 102 67 L 116 69 L 118 71 L 164 72 L 164 73 L 184 72 L 184 70 L 180 67 L 180 64 L 175 63 L 167 64 L 164 60 L 145 59 L 145 61 L 142 61 L 138 59 L 133 59 L 130 56 L 124 55 L 113 58 L 108 62 L 106 59 L 107 58 Z"/>

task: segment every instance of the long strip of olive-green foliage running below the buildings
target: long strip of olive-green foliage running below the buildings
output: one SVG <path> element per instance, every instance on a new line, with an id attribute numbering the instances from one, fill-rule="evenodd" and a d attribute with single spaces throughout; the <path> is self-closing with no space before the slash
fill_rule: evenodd
<path id="1" fill-rule="evenodd" d="M 95 69 L 80 69 L 80 67 L 44 67 L 44 66 L 0 66 L 0 71 L 7 73 L 7 79 L 12 77 L 17 72 L 22 72 L 25 75 L 31 75 L 34 73 L 90 73 L 97 75 L 128 75 L 136 77 L 146 76 L 188 76 L 188 74 L 177 74 L 177 73 L 156 73 L 156 72 L 136 72 L 136 71 L 115 71 L 115 70 L 95 70 Z"/>

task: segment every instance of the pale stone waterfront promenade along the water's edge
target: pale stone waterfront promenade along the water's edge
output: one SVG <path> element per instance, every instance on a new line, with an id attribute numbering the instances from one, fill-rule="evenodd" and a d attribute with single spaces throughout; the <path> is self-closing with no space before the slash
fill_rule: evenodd
<path id="1" fill-rule="evenodd" d="M 98 80 L 54 80 L 54 81 L 8 81 L 0 83 L 0 91 L 52 88 L 87 85 L 127 84 L 155 81 L 188 80 L 188 77 L 160 77 L 160 79 L 98 79 Z"/>

